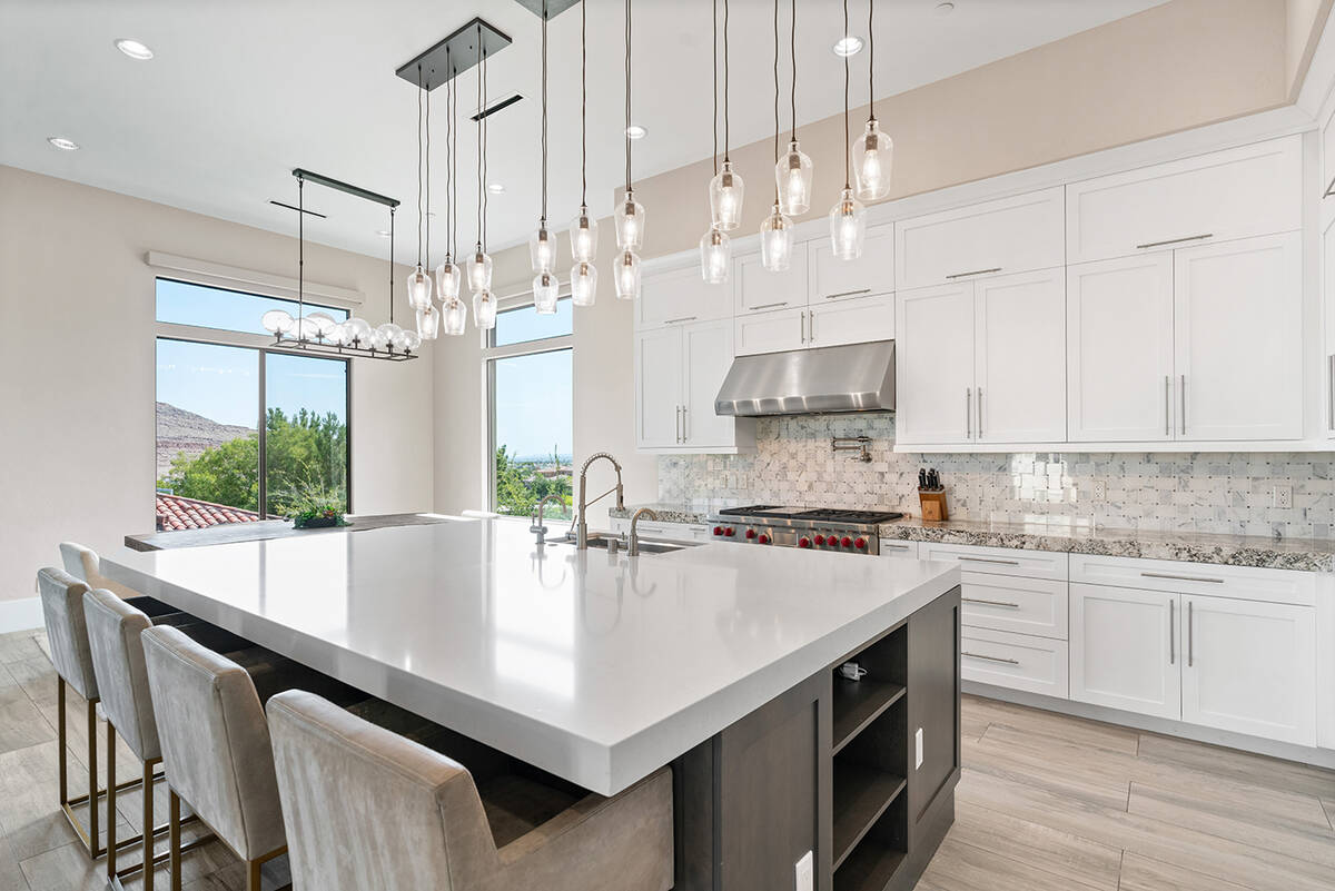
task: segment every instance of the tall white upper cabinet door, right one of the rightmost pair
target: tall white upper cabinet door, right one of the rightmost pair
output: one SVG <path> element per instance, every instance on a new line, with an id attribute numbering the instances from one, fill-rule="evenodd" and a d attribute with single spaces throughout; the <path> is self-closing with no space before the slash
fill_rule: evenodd
<path id="1" fill-rule="evenodd" d="M 1302 235 L 1177 251 L 1177 437 L 1303 436 Z"/>

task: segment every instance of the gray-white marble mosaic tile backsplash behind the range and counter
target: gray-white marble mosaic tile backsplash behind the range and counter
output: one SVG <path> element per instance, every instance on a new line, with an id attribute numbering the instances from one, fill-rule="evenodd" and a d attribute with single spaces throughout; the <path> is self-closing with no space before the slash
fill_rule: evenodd
<path id="1" fill-rule="evenodd" d="M 832 436 L 872 437 L 872 462 L 833 454 Z M 659 456 L 658 500 L 917 515 L 918 467 L 934 467 L 957 520 L 1306 539 L 1335 532 L 1330 452 L 896 454 L 892 415 L 768 417 L 757 440 L 754 455 Z M 1276 486 L 1292 487 L 1291 508 L 1272 506 Z"/>

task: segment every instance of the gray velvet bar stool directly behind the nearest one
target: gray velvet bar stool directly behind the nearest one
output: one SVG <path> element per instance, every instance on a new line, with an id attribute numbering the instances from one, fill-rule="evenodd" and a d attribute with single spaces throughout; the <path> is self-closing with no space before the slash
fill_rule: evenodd
<path id="1" fill-rule="evenodd" d="M 171 887 L 180 891 L 180 802 L 246 862 L 246 891 L 287 851 L 264 707 L 239 664 L 155 626 L 140 635 L 167 784 Z"/>

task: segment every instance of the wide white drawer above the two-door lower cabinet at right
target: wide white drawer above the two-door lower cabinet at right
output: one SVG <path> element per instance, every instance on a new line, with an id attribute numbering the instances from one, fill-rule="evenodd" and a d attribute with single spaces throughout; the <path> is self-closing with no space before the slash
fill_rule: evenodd
<path id="1" fill-rule="evenodd" d="M 1071 582 L 1308 607 L 1316 603 L 1316 578 L 1292 570 L 1072 554 Z"/>

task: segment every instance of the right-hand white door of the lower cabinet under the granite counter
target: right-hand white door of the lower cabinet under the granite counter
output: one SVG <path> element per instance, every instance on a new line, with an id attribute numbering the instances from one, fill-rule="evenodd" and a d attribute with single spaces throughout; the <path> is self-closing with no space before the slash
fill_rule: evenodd
<path id="1" fill-rule="evenodd" d="M 1316 744 L 1316 610 L 1184 596 L 1181 719 Z"/>

